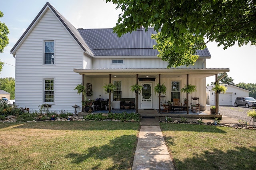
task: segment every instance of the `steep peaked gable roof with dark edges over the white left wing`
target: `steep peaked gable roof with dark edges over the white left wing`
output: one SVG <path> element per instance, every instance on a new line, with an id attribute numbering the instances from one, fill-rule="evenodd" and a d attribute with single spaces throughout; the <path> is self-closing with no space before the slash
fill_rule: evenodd
<path id="1" fill-rule="evenodd" d="M 17 43 L 12 47 L 11 54 L 15 54 L 16 49 L 19 47 L 21 42 L 25 39 L 25 37 L 29 34 L 30 30 L 36 25 L 39 19 L 43 16 L 46 9 L 49 8 L 52 12 L 56 15 L 56 17 L 60 20 L 60 22 L 64 25 L 67 31 L 72 35 L 78 45 L 83 49 L 84 52 L 88 52 L 89 55 L 92 55 L 92 51 L 88 47 L 88 45 L 84 42 L 83 38 L 81 37 L 80 33 L 78 33 L 77 29 L 70 23 L 66 18 L 64 18 L 49 2 L 46 2 L 42 10 L 37 14 L 36 18 L 32 21 L 32 23 L 28 26 L 26 31 L 22 34 L 20 39 Z"/>

